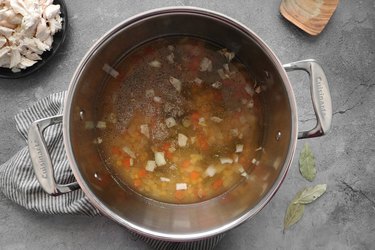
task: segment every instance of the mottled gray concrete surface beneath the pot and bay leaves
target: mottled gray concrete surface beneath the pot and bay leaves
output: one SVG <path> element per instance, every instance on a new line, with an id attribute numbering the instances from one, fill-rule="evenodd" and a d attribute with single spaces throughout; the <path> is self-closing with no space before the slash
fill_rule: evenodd
<path id="1" fill-rule="evenodd" d="M 0 79 L 0 163 L 25 145 L 14 114 L 37 99 L 65 90 L 88 48 L 118 22 L 141 11 L 170 5 L 209 8 L 254 30 L 284 63 L 315 58 L 329 79 L 334 117 L 329 135 L 308 140 L 327 193 L 308 206 L 285 234 L 283 217 L 296 190 L 309 185 L 297 157 L 282 187 L 253 219 L 228 232 L 224 249 L 375 248 L 375 2 L 342 0 L 326 29 L 310 37 L 279 14 L 280 0 L 67 1 L 65 45 L 40 72 L 21 80 Z M 312 125 L 306 76 L 291 73 L 301 127 Z M 299 141 L 297 154 L 304 142 Z M 47 216 L 26 211 L 0 192 L 0 249 L 148 249 L 105 217 Z"/>

